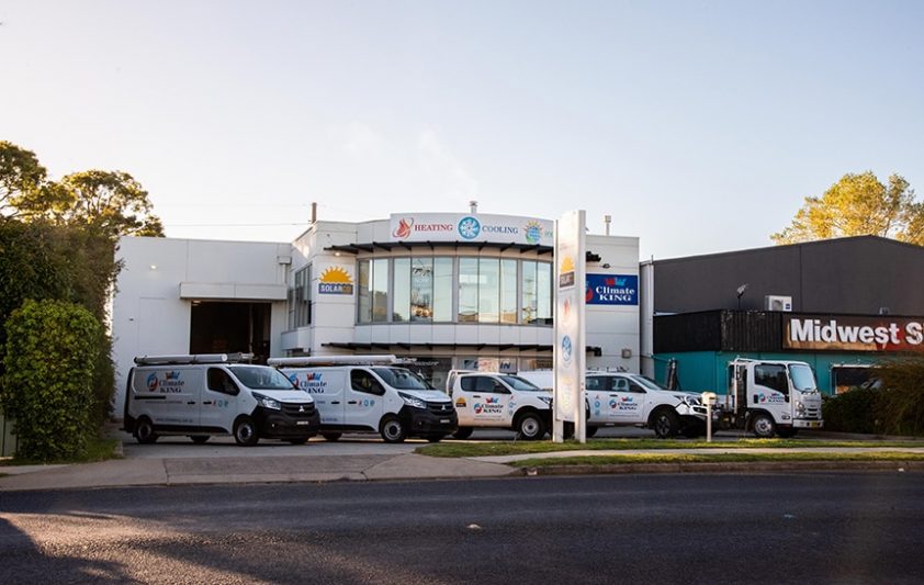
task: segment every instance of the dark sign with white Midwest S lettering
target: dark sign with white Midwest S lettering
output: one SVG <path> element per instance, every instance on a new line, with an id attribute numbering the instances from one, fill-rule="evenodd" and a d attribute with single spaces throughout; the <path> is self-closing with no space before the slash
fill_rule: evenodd
<path id="1" fill-rule="evenodd" d="M 801 315 L 785 323 L 788 349 L 924 352 L 924 320 Z"/>

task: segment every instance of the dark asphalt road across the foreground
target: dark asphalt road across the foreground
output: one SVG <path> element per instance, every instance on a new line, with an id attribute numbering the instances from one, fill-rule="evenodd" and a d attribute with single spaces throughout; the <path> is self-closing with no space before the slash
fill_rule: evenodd
<path id="1" fill-rule="evenodd" d="M 0 583 L 920 583 L 924 475 L 0 496 Z"/>

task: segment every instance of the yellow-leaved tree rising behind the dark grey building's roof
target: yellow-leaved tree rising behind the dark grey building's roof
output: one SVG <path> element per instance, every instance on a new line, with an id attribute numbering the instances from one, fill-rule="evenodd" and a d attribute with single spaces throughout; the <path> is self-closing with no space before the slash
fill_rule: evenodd
<path id="1" fill-rule="evenodd" d="M 869 235 L 924 245 L 924 203 L 904 178 L 892 175 L 882 184 L 872 171 L 845 175 L 823 195 L 805 198 L 792 223 L 770 238 L 798 244 Z"/>

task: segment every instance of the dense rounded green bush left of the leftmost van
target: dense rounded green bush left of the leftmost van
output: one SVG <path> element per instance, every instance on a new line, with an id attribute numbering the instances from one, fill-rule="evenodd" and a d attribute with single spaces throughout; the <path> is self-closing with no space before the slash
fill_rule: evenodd
<path id="1" fill-rule="evenodd" d="M 104 333 L 86 308 L 23 302 L 7 319 L 0 406 L 15 421 L 16 457 L 68 460 L 95 432 L 93 382 Z"/>

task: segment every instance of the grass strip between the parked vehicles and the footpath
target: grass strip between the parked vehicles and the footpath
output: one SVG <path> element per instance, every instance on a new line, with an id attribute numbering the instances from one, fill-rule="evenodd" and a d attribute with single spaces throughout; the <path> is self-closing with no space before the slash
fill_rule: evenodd
<path id="1" fill-rule="evenodd" d="M 924 443 L 922 443 L 924 445 Z M 629 449 L 746 449 L 746 448 L 823 448 L 823 447 L 913 447 L 912 441 L 814 441 L 798 439 L 740 439 L 736 441 L 662 440 L 662 439 L 590 439 L 577 441 L 491 441 L 440 442 L 419 447 L 416 452 L 430 457 L 516 455 L 555 451 L 598 451 Z"/>

